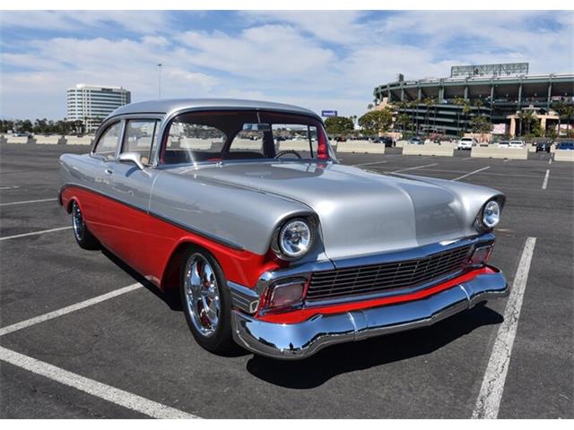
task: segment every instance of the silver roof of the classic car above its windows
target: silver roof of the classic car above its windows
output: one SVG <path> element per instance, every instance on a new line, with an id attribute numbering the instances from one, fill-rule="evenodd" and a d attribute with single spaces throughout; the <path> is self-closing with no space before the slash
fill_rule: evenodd
<path id="1" fill-rule="evenodd" d="M 255 110 L 279 110 L 289 113 L 317 116 L 312 110 L 305 107 L 272 103 L 269 101 L 245 100 L 245 99 L 159 99 L 138 101 L 126 106 L 118 107 L 109 117 L 129 114 L 165 114 L 169 115 L 180 110 L 193 109 L 233 109 L 251 108 Z"/>

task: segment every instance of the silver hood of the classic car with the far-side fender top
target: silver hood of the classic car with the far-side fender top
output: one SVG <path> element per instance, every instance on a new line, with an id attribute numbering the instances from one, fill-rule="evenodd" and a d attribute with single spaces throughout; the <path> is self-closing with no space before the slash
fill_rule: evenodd
<path id="1" fill-rule="evenodd" d="M 497 193 L 474 185 L 380 175 L 332 163 L 230 163 L 188 169 L 187 174 L 274 193 L 309 206 L 318 215 L 325 252 L 333 260 L 475 235 L 478 211 Z"/>

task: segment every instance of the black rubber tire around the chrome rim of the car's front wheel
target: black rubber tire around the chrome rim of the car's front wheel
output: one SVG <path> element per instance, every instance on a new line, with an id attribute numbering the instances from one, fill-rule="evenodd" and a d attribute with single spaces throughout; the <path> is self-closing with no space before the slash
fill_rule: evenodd
<path id="1" fill-rule="evenodd" d="M 204 258 L 204 261 L 208 262 L 213 271 L 214 279 L 216 281 L 216 287 L 218 290 L 220 312 L 218 315 L 218 321 L 216 328 L 209 335 L 198 329 L 196 324 L 202 324 L 201 317 L 196 318 L 192 314 L 192 307 L 190 303 L 193 301 L 188 300 L 186 292 L 187 283 L 187 271 L 189 265 L 193 267 L 196 261 L 197 255 Z M 232 353 L 238 349 L 237 344 L 233 340 L 231 334 L 231 297 L 230 291 L 227 288 L 227 280 L 223 275 L 223 271 L 217 260 L 213 258 L 212 254 L 207 253 L 204 249 L 197 246 L 189 246 L 186 252 L 183 254 L 181 262 L 181 273 L 179 277 L 179 293 L 181 298 L 181 306 L 183 312 L 186 315 L 187 326 L 191 331 L 196 342 L 204 349 L 212 352 L 213 354 L 226 355 Z M 195 307 L 193 307 L 196 309 Z M 210 330 L 210 329 L 207 329 Z"/>

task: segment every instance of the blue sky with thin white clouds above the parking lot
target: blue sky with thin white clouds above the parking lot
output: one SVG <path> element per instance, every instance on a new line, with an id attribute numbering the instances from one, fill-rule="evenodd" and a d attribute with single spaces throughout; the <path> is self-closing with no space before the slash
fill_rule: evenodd
<path id="1" fill-rule="evenodd" d="M 235 98 L 361 116 L 373 89 L 458 64 L 574 72 L 573 12 L 0 13 L 0 116 L 61 119 L 77 83 L 132 101 Z"/>

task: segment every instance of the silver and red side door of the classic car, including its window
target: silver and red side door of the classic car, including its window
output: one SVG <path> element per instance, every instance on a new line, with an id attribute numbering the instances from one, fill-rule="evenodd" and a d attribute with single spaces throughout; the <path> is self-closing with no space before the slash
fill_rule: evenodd
<path id="1" fill-rule="evenodd" d="M 114 232 L 109 246 L 122 260 L 143 275 L 153 258 L 153 230 L 149 216 L 150 193 L 159 171 L 152 166 L 160 129 L 159 118 L 127 118 L 117 158 L 107 167 L 109 196 L 117 202 L 109 214 Z M 143 168 L 119 155 L 134 152 L 141 157 Z"/>

